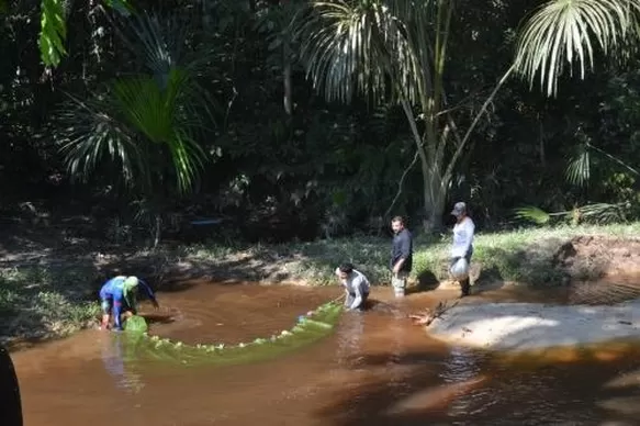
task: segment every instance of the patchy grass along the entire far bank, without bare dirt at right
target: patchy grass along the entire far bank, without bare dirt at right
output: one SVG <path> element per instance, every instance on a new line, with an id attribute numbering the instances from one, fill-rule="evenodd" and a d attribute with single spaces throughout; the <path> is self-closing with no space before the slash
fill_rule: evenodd
<path id="1" fill-rule="evenodd" d="M 535 285 L 562 283 L 563 272 L 553 266 L 559 247 L 580 235 L 633 237 L 640 223 L 608 226 L 560 226 L 503 233 L 479 233 L 472 266 L 482 277 Z M 413 278 L 420 282 L 447 278 L 450 235 L 417 237 L 414 242 Z M 139 250 L 98 265 L 91 242 L 87 257 L 58 253 L 40 265 L 0 262 L 0 341 L 68 335 L 94 321 L 99 314 L 97 285 L 105 277 L 138 273 L 157 284 L 154 277 L 190 272 L 236 280 L 336 284 L 335 268 L 351 261 L 373 283 L 390 281 L 390 238 L 357 237 L 314 243 L 224 247 L 216 244 Z M 110 254 L 106 254 L 109 258 Z M 117 259 L 117 254 L 113 255 Z M 52 255 L 53 256 L 53 255 Z M 111 262 L 111 264 L 110 264 Z M 4 265 L 4 266 L 3 266 Z M 124 272 L 124 271 L 130 272 Z M 588 278 L 588 271 L 585 277 Z"/>

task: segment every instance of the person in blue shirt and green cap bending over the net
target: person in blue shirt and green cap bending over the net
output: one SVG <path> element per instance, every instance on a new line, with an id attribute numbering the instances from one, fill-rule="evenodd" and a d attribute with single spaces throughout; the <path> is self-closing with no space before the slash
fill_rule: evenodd
<path id="1" fill-rule="evenodd" d="M 121 315 L 131 316 L 136 314 L 136 293 L 139 284 L 145 289 L 145 293 L 151 300 L 155 309 L 159 307 L 156 295 L 149 285 L 137 277 L 119 276 L 106 281 L 100 289 L 100 304 L 102 307 L 101 329 L 108 329 L 110 318 L 113 315 L 113 323 L 116 330 L 122 330 Z"/>

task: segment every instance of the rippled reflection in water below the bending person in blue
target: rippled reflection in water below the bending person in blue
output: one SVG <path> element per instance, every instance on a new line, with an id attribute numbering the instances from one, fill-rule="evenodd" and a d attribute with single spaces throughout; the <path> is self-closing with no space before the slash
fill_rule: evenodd
<path id="1" fill-rule="evenodd" d="M 134 349 L 131 347 L 131 338 L 132 336 L 123 333 L 105 334 L 101 339 L 101 359 L 104 370 L 113 378 L 117 389 L 128 394 L 137 394 L 145 388 L 145 383 L 136 372 L 135 363 L 126 357 L 126 350 Z"/>

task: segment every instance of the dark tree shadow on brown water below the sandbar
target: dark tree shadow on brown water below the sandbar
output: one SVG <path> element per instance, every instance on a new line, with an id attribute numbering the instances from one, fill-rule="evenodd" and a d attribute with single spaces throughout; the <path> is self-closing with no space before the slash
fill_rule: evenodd
<path id="1" fill-rule="evenodd" d="M 638 355 L 508 366 L 460 348 L 447 357 L 378 354 L 357 360 L 360 369 L 380 369 L 378 380 L 334 391 L 316 414 L 333 426 L 637 425 Z M 402 370 L 401 386 L 384 373 L 389 369 Z"/>

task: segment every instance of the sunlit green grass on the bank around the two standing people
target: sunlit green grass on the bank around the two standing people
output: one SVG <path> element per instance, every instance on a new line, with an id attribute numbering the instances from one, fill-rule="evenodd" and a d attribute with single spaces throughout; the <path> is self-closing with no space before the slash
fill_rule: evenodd
<path id="1" fill-rule="evenodd" d="M 535 285 L 558 284 L 562 271 L 552 268 L 560 246 L 579 235 L 630 237 L 640 235 L 640 223 L 607 226 L 558 226 L 526 228 L 502 233 L 479 233 L 474 240 L 472 264 L 481 265 L 485 276 L 505 281 Z M 414 279 L 447 278 L 450 235 L 414 240 Z M 304 281 L 311 284 L 335 283 L 334 270 L 343 261 L 351 261 L 367 273 L 370 281 L 390 281 L 390 238 L 358 237 L 318 240 L 314 243 L 237 247 L 235 250 L 216 245 L 189 247 L 188 258 L 201 262 L 217 262 L 242 276 L 233 261 L 238 253 L 247 279 Z M 278 268 L 273 267 L 279 265 Z M 240 268 L 242 269 L 242 268 Z M 272 270 L 277 272 L 273 273 Z M 588 277 L 583 277 L 588 278 Z"/>

